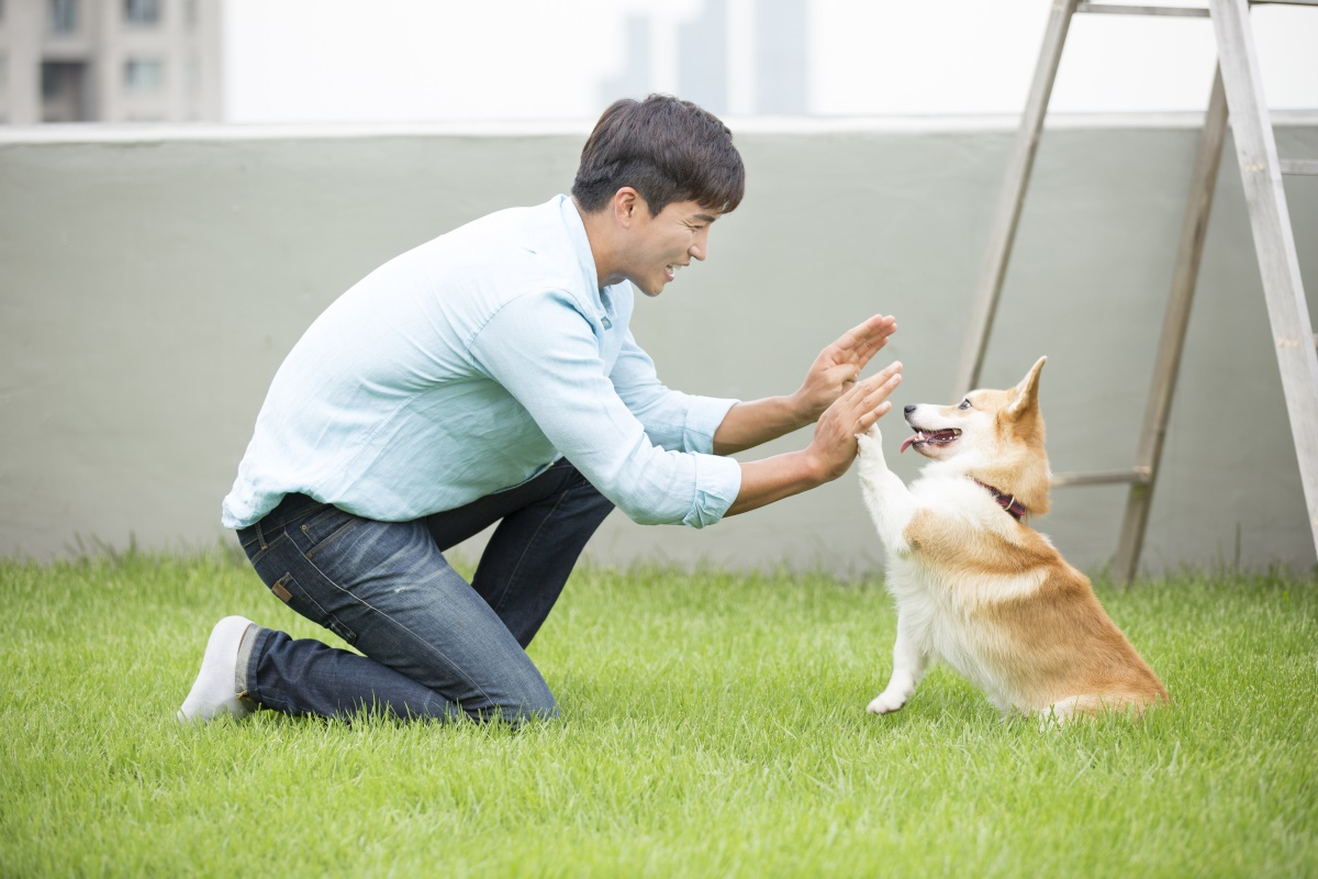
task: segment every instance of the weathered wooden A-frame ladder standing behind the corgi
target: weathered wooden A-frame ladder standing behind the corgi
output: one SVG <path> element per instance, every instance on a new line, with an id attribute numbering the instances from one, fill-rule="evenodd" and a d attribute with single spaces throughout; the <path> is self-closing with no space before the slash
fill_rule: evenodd
<path id="1" fill-rule="evenodd" d="M 1256 1 L 1318 7 L 1318 0 Z M 1070 28 L 1072 16 L 1077 12 L 1210 17 L 1217 34 L 1218 69 L 1213 79 L 1209 109 L 1199 134 L 1198 154 L 1190 178 L 1190 198 L 1181 227 L 1181 242 L 1172 278 L 1172 295 L 1162 320 L 1162 336 L 1153 369 L 1153 386 L 1144 414 L 1144 428 L 1140 435 L 1135 467 L 1130 470 L 1057 473 L 1053 476 L 1053 485 L 1114 482 L 1131 485 L 1112 568 L 1114 579 L 1118 582 L 1130 582 L 1135 577 L 1140 550 L 1144 544 L 1144 531 L 1148 525 L 1149 505 L 1153 499 L 1159 460 L 1162 455 L 1168 414 L 1172 410 L 1172 394 L 1176 390 L 1177 372 L 1181 366 L 1190 302 L 1194 298 L 1194 283 L 1199 273 L 1199 258 L 1203 253 L 1209 210 L 1213 206 L 1213 191 L 1217 184 L 1230 111 L 1236 158 L 1240 163 L 1240 177 L 1244 182 L 1246 203 L 1249 211 L 1249 225 L 1253 231 L 1255 250 L 1259 254 L 1263 291 L 1268 302 L 1268 319 L 1276 340 L 1277 365 L 1281 368 L 1286 410 L 1290 414 L 1290 432 L 1296 443 L 1296 455 L 1300 459 L 1300 476 L 1304 482 L 1305 503 L 1309 507 L 1309 525 L 1314 546 L 1318 547 L 1318 353 L 1314 349 L 1318 340 L 1315 340 L 1309 322 L 1309 308 L 1300 279 L 1300 261 L 1296 256 L 1296 240 L 1290 229 L 1285 191 L 1281 186 L 1282 174 L 1318 174 L 1318 161 L 1282 161 L 1277 158 L 1277 144 L 1268 120 L 1253 32 L 1249 26 L 1249 0 L 1209 0 L 1207 8 L 1131 7 L 1054 0 L 1048 30 L 1044 34 L 1044 46 L 1039 55 L 1039 67 L 1035 71 L 1035 80 L 1029 90 L 1025 112 L 1020 121 L 998 202 L 988 239 L 988 253 L 979 277 L 970 331 L 962 349 L 957 386 L 953 393 L 960 397 L 977 387 L 979 382 L 979 370 L 983 366 L 985 349 L 992 331 L 1003 278 L 1007 274 L 1007 261 L 1016 236 L 1025 187 L 1029 184 L 1029 173 L 1039 148 L 1048 99 L 1057 76 L 1066 32 Z"/>

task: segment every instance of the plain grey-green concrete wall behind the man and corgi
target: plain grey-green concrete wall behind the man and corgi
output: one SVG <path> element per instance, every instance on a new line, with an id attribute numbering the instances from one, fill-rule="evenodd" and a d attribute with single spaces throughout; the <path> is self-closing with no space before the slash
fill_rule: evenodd
<path id="1" fill-rule="evenodd" d="M 985 383 L 1049 356 L 1056 470 L 1133 461 L 1197 123 L 1058 119 L 1045 133 Z M 306 326 L 394 254 L 568 188 L 587 129 L 0 133 L 0 553 L 231 539 L 220 498 Z M 822 345 L 884 311 L 900 322 L 884 356 L 907 364 L 896 406 L 950 402 L 1014 121 L 734 129 L 745 202 L 714 227 L 706 264 L 638 303 L 660 376 L 695 393 L 787 393 Z M 1318 119 L 1278 141 L 1318 156 Z M 1145 544 L 1155 569 L 1231 563 L 1238 546 L 1248 565 L 1314 563 L 1230 150 Z M 1318 178 L 1286 190 L 1318 290 Z M 904 426 L 884 427 L 909 478 Z M 1039 527 L 1094 568 L 1124 497 L 1058 489 Z M 859 576 L 882 559 L 854 472 L 704 531 L 614 514 L 589 552 Z"/>

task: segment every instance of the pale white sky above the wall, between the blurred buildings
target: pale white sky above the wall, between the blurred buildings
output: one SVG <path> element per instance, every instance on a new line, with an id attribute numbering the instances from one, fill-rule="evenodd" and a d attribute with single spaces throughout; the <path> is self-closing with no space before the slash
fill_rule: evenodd
<path id="1" fill-rule="evenodd" d="M 817 116 L 1019 113 L 1050 11 L 1050 0 L 804 1 Z M 593 120 L 618 96 L 602 83 L 627 63 L 629 17 L 650 22 L 650 88 L 676 92 L 675 34 L 706 3 L 728 8 L 728 113 L 751 115 L 749 34 L 764 0 L 227 0 L 225 116 Z M 1318 8 L 1256 7 L 1252 26 L 1269 105 L 1318 109 Z M 1202 111 L 1214 59 L 1207 20 L 1077 16 L 1049 111 Z"/>

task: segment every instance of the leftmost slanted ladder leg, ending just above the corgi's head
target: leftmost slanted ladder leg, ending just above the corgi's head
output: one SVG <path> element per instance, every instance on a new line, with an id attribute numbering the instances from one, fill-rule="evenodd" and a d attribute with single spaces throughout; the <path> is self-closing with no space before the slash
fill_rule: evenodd
<path id="1" fill-rule="evenodd" d="M 1057 79 L 1057 66 L 1061 63 L 1062 43 L 1066 42 L 1066 30 L 1070 28 L 1077 3 L 1078 0 L 1053 0 L 1052 17 L 1048 20 L 1048 30 L 1044 34 L 1044 47 L 1039 54 L 1035 80 L 1029 88 L 1025 112 L 1011 149 L 1007 177 L 998 199 L 998 212 L 988 235 L 988 254 L 979 273 L 970 329 L 962 347 L 961 365 L 957 368 L 957 383 L 953 387 L 956 397 L 971 390 L 979 382 L 985 349 L 988 347 L 988 333 L 992 331 L 1002 282 L 1007 274 L 1007 261 L 1011 258 L 1011 245 L 1016 237 L 1020 206 L 1025 198 L 1025 187 L 1029 186 L 1029 173 L 1039 149 L 1039 134 L 1044 128 L 1044 113 L 1048 111 L 1048 99 L 1052 96 L 1053 80 Z"/>

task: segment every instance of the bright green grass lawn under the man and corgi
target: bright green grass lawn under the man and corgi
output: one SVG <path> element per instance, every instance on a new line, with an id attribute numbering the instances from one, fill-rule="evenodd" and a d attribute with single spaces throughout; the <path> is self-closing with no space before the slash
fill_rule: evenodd
<path id="1" fill-rule="evenodd" d="M 1318 581 L 1101 598 L 1176 704 L 1002 721 L 886 683 L 880 585 L 579 572 L 511 731 L 260 712 L 181 729 L 211 625 L 320 637 L 224 553 L 0 561 L 0 875 L 1318 875 Z"/>

